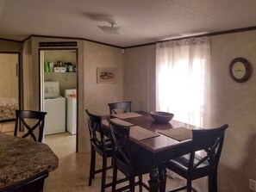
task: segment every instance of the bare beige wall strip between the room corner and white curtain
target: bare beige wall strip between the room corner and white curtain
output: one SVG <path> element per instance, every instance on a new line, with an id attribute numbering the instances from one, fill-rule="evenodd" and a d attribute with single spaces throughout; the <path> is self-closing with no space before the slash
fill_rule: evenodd
<path id="1" fill-rule="evenodd" d="M 155 45 L 125 49 L 124 100 L 132 110 L 155 110 Z"/>

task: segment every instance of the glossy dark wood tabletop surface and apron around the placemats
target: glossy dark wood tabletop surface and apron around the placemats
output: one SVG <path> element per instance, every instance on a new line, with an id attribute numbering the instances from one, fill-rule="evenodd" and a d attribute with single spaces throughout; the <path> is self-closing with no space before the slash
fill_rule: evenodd
<path id="1" fill-rule="evenodd" d="M 125 118 L 122 121 L 133 124 L 134 126 L 140 126 L 147 130 L 159 133 L 166 129 L 172 129 L 177 127 L 185 127 L 193 129 L 195 127 L 190 126 L 184 122 L 170 121 L 169 123 L 159 123 L 154 121 L 151 115 L 147 112 L 136 112 L 140 116 Z M 168 159 L 179 157 L 190 152 L 191 139 L 178 141 L 172 139 L 164 134 L 159 134 L 158 137 L 134 140 L 134 153 L 140 154 L 142 157 L 147 157 L 152 160 L 153 164 L 162 163 Z"/>

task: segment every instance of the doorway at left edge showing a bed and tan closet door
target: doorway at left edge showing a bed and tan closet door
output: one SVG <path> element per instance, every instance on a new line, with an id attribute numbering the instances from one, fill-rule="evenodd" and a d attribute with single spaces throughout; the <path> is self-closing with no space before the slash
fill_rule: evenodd
<path id="1" fill-rule="evenodd" d="M 0 53 L 0 131 L 14 131 L 20 108 L 20 53 Z"/>

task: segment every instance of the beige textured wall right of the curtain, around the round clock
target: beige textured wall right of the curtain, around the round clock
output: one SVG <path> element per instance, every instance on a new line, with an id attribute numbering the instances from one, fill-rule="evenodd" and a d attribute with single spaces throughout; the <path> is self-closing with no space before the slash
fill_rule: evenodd
<path id="1" fill-rule="evenodd" d="M 220 191 L 249 191 L 256 180 L 256 76 L 235 83 L 228 73 L 230 61 L 247 59 L 256 69 L 256 31 L 211 38 L 211 121 L 229 125 L 219 169 Z"/>

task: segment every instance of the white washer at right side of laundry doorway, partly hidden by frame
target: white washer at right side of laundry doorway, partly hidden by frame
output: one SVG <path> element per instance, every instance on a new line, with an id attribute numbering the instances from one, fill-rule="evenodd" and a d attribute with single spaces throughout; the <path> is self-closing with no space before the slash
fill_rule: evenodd
<path id="1" fill-rule="evenodd" d="M 77 133 L 77 90 L 65 90 L 66 97 L 66 130 Z"/>

